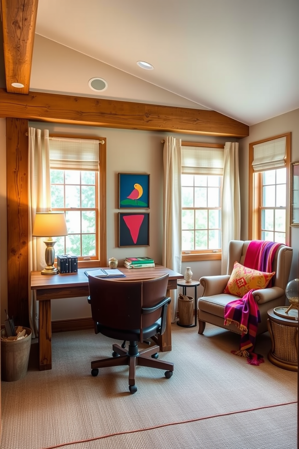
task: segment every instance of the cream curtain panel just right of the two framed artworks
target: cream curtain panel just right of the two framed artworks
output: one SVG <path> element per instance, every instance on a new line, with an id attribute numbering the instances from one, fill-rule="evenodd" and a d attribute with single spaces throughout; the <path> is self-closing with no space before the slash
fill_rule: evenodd
<path id="1" fill-rule="evenodd" d="M 163 251 L 162 264 L 177 273 L 182 269 L 181 139 L 167 137 L 163 150 Z M 171 321 L 176 319 L 178 290 L 170 290 Z"/>

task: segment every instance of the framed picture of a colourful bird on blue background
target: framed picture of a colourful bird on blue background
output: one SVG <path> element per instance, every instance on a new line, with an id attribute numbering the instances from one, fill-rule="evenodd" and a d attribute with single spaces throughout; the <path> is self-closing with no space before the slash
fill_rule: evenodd
<path id="1" fill-rule="evenodd" d="M 150 175 L 118 173 L 118 209 L 149 209 Z"/>

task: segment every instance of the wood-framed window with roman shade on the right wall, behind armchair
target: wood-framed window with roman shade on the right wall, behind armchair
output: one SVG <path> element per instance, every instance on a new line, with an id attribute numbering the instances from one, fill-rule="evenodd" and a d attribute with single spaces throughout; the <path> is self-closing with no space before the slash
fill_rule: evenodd
<path id="1" fill-rule="evenodd" d="M 290 133 L 249 144 L 249 238 L 289 242 Z"/>

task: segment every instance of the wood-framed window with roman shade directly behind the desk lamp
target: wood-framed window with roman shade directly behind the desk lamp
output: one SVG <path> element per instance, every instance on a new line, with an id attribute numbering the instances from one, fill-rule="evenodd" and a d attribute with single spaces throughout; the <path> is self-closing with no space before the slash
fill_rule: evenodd
<path id="1" fill-rule="evenodd" d="M 65 213 L 68 229 L 67 236 L 57 238 L 55 252 L 77 255 L 81 266 L 98 263 L 102 256 L 105 260 L 106 245 L 101 248 L 100 239 L 100 231 L 106 233 L 106 191 L 100 186 L 100 177 L 106 176 L 105 164 L 100 164 L 105 142 L 60 136 L 50 136 L 49 142 L 51 206 Z"/>

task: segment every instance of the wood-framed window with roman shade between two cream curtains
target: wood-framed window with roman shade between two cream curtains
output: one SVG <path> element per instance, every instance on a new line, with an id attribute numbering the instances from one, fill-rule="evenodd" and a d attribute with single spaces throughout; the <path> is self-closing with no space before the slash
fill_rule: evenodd
<path id="1" fill-rule="evenodd" d="M 182 142 L 182 261 L 221 259 L 224 146 Z"/>

